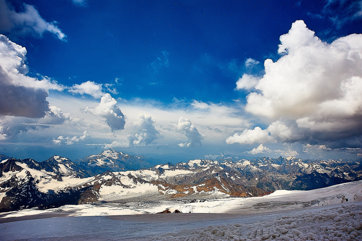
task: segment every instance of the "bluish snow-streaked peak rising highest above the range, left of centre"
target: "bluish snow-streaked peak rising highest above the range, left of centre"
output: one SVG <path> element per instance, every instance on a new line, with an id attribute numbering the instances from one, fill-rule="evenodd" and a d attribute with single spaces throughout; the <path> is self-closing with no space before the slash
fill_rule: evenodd
<path id="1" fill-rule="evenodd" d="M 97 155 L 89 155 L 76 160 L 76 162 L 78 166 L 87 170 L 88 173 L 97 175 L 108 170 L 123 172 L 127 170 L 150 168 L 151 166 L 160 163 L 161 160 L 144 156 L 128 155 L 123 152 L 114 151 L 114 149 L 110 148 Z"/>

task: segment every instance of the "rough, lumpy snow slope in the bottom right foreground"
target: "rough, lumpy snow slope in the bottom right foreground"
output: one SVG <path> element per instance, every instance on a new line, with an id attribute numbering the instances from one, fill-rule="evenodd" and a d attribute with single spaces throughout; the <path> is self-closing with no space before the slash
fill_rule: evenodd
<path id="1" fill-rule="evenodd" d="M 180 232 L 153 237 L 150 240 L 362 240 L 361 219 L 361 203 L 350 206 L 342 204 L 340 208 L 337 206 L 333 211 L 329 209 L 315 210 L 312 213 L 282 216 L 263 222 L 258 221 L 251 225 L 236 223 L 217 227 L 210 226 L 204 229 L 184 229 Z"/>

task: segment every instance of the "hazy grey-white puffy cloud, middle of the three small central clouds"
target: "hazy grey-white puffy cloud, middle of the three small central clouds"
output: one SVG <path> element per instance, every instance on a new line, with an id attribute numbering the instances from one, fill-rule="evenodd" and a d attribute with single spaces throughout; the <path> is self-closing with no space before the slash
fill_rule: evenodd
<path id="1" fill-rule="evenodd" d="M 127 137 L 129 145 L 148 145 L 153 140 L 159 138 L 160 132 L 156 130 L 153 125 L 154 123 L 155 120 L 151 116 L 141 115 L 139 120 L 133 123 L 137 133 Z"/>

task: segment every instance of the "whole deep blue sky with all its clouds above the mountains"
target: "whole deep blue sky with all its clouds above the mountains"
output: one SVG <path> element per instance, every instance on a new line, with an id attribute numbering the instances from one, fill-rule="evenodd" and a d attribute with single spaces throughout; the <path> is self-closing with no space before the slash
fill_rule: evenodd
<path id="1" fill-rule="evenodd" d="M 0 153 L 355 160 L 361 33 L 361 0 L 0 0 Z"/>

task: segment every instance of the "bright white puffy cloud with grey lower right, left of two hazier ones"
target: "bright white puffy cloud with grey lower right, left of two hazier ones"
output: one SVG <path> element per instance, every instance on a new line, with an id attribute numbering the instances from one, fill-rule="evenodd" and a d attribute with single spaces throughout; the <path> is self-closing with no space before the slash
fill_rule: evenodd
<path id="1" fill-rule="evenodd" d="M 117 101 L 109 93 L 104 94 L 101 102 L 96 107 L 86 106 L 84 111 L 93 115 L 105 118 L 106 123 L 112 131 L 123 130 L 126 124 L 126 117 L 116 106 Z"/>

